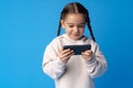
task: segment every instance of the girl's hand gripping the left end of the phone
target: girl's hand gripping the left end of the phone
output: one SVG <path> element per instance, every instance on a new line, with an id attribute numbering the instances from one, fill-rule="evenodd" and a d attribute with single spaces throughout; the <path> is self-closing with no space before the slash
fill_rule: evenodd
<path id="1" fill-rule="evenodd" d="M 59 57 L 63 62 L 68 62 L 69 58 L 74 54 L 74 52 L 70 48 L 68 50 L 59 50 Z"/>

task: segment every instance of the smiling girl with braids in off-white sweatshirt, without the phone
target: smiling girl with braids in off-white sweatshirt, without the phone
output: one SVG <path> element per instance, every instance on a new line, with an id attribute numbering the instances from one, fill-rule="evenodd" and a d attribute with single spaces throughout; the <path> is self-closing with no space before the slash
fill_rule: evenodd
<path id="1" fill-rule="evenodd" d="M 83 35 L 85 25 L 92 40 Z M 65 30 L 62 35 L 61 28 Z M 91 50 L 81 55 L 70 48 L 63 50 L 64 45 L 86 44 L 91 44 Z M 69 3 L 62 10 L 58 36 L 47 46 L 42 67 L 54 79 L 55 88 L 94 88 L 93 78 L 106 70 L 106 61 L 92 33 L 89 12 L 81 3 Z"/>

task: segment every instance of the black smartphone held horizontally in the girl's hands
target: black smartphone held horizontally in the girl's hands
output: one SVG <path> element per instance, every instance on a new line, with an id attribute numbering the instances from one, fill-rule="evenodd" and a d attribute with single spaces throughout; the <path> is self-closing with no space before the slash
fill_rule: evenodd
<path id="1" fill-rule="evenodd" d="M 64 45 L 63 50 L 73 50 L 74 51 L 74 55 L 81 55 L 82 52 L 86 51 L 86 50 L 91 50 L 91 45 L 86 44 L 86 45 Z"/>

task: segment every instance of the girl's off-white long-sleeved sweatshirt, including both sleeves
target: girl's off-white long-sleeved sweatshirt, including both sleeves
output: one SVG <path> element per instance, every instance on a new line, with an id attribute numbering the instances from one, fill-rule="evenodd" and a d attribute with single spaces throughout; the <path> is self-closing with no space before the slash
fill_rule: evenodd
<path id="1" fill-rule="evenodd" d="M 90 62 L 82 55 L 73 55 L 68 63 L 59 58 L 63 45 L 91 44 L 94 56 Z M 106 70 L 106 61 L 92 40 L 83 36 L 80 41 L 69 38 L 66 34 L 55 37 L 45 48 L 42 63 L 43 72 L 54 79 L 55 88 L 94 88 L 93 78 Z"/>

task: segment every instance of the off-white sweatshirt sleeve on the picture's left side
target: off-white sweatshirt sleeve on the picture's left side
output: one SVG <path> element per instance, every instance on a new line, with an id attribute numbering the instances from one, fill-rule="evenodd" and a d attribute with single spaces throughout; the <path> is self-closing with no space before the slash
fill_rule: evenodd
<path id="1" fill-rule="evenodd" d="M 57 79 L 65 72 L 65 63 L 58 57 L 57 44 L 50 44 L 47 46 L 42 68 L 43 72 L 53 79 Z"/>

